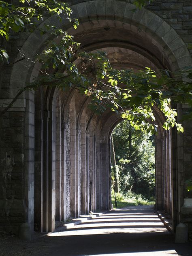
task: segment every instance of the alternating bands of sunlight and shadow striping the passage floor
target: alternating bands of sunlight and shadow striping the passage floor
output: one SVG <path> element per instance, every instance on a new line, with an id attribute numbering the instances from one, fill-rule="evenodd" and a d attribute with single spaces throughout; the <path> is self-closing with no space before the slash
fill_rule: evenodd
<path id="1" fill-rule="evenodd" d="M 101 216 L 93 216 L 91 220 L 82 220 L 78 225 L 66 225 L 65 230 L 50 233 L 50 237 L 100 235 L 121 233 L 166 233 L 164 224 L 156 214 L 134 213 L 107 213 Z"/>

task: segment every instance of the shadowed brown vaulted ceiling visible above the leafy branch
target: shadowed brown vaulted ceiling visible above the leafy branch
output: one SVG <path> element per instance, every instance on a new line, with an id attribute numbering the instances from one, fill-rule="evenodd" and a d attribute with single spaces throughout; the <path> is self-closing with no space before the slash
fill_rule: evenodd
<path id="1" fill-rule="evenodd" d="M 100 27 L 74 33 L 74 37 L 89 51 L 106 51 L 115 68 L 143 69 L 149 66 L 156 70 L 171 69 L 169 59 L 162 56 L 162 47 L 146 34 L 124 28 Z"/>

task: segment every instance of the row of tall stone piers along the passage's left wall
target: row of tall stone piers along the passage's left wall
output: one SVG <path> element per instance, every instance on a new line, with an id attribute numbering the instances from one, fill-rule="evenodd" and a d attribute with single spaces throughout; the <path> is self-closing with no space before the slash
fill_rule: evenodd
<path id="1" fill-rule="evenodd" d="M 67 102 L 56 89 L 35 92 L 34 225 L 42 232 L 54 230 L 55 220 L 87 214 L 90 196 L 93 211 L 109 208 L 102 205 L 108 191 L 100 194 L 97 119 L 89 109 L 78 112 L 84 97 L 71 94 Z"/>

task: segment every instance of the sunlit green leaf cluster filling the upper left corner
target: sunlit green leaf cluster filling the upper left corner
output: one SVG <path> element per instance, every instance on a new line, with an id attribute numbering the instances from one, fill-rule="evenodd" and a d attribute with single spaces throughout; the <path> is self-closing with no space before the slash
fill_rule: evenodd
<path id="1" fill-rule="evenodd" d="M 19 0 L 15 5 L 9 2 L 0 1 L 0 36 L 9 41 L 10 35 L 15 32 L 28 30 L 33 32 L 39 21 L 50 15 L 57 15 L 61 19 L 64 14 L 70 19 L 71 9 L 66 3 L 56 0 Z M 77 26 L 75 21 L 75 26 Z M 51 26 L 47 26 L 47 28 Z M 42 34 L 45 33 L 42 30 Z M 6 58 L 8 54 L 0 49 L 0 59 Z"/>

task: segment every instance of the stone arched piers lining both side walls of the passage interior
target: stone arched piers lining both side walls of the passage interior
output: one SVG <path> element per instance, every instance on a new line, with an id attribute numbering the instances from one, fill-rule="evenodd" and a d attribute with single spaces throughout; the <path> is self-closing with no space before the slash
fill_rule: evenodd
<path id="1" fill-rule="evenodd" d="M 93 116 L 86 105 L 81 109 L 85 96 L 70 94 L 35 92 L 34 229 L 41 232 L 53 231 L 55 221 L 111 209 L 110 137 L 122 118 L 111 111 Z M 156 209 L 173 214 L 172 134 L 160 125 Z"/>

